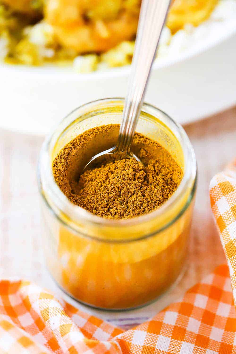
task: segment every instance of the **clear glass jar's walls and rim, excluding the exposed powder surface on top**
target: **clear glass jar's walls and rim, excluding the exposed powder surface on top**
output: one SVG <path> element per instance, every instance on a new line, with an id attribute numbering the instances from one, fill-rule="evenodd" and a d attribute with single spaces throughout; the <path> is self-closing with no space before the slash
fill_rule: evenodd
<path id="1" fill-rule="evenodd" d="M 196 160 L 183 128 L 144 104 L 136 131 L 158 141 L 182 167 L 176 192 L 149 214 L 111 220 L 72 204 L 54 181 L 52 161 L 80 133 L 121 122 L 123 99 L 102 99 L 71 112 L 49 135 L 39 160 L 47 267 L 58 285 L 96 308 L 127 309 L 156 299 L 183 270 L 196 189 Z M 115 144 L 104 139 L 101 150 Z M 97 153 L 98 151 L 94 152 Z"/>

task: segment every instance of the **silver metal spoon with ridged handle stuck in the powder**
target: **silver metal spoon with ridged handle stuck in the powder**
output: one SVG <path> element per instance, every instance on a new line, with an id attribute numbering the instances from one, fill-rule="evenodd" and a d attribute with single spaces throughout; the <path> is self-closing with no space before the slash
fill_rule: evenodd
<path id="1" fill-rule="evenodd" d="M 122 158 L 135 158 L 142 162 L 132 153 L 130 147 L 169 3 L 170 0 L 142 0 L 128 95 L 125 100 L 117 143 L 114 147 L 93 156 L 85 165 L 83 172 L 94 165 L 94 160 L 106 154 L 119 152 Z"/>

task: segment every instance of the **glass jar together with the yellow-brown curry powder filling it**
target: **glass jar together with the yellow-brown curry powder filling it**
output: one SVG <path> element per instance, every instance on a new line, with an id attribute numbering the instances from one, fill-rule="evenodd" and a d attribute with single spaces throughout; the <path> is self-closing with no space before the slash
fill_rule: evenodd
<path id="1" fill-rule="evenodd" d="M 115 144 L 122 109 L 120 99 L 76 109 L 39 161 L 48 269 L 69 295 L 104 309 L 141 306 L 178 279 L 196 188 L 184 130 L 147 104 L 132 145 L 144 166 L 116 156 L 81 175 L 89 158 Z"/>

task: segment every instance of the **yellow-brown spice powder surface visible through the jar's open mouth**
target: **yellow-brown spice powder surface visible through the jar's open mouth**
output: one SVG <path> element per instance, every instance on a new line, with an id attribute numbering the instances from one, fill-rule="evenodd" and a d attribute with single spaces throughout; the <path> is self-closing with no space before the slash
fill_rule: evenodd
<path id="1" fill-rule="evenodd" d="M 93 155 L 114 145 L 118 133 L 119 125 L 110 124 L 78 135 L 60 150 L 52 170 L 74 204 L 101 217 L 127 219 L 160 207 L 177 189 L 183 172 L 165 148 L 135 133 L 132 151 L 144 166 L 134 158 L 107 155 L 80 175 Z"/>

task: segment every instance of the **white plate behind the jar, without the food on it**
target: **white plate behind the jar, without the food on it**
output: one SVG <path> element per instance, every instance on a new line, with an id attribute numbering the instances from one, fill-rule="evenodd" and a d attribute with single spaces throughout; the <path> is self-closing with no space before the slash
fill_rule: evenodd
<path id="1" fill-rule="evenodd" d="M 236 21 L 213 29 L 188 50 L 154 63 L 145 101 L 182 124 L 236 104 Z M 1 65 L 0 126 L 44 135 L 85 102 L 124 97 L 129 69 L 76 74 L 55 67 Z"/>

